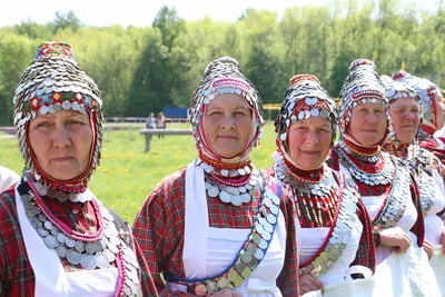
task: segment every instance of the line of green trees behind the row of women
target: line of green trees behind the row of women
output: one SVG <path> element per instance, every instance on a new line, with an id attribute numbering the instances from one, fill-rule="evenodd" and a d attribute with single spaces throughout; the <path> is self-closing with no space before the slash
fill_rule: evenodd
<path id="1" fill-rule="evenodd" d="M 402 65 L 445 86 L 445 4 L 423 11 L 396 0 L 336 1 L 277 13 L 247 9 L 237 21 L 185 21 L 162 7 L 151 27 L 87 27 L 73 12 L 47 24 L 32 20 L 0 28 L 0 125 L 12 125 L 12 98 L 37 46 L 65 40 L 102 91 L 107 117 L 146 117 L 164 107 L 188 107 L 211 60 L 236 58 L 266 103 L 283 100 L 295 73 L 317 76 L 338 97 L 357 58 L 392 75 Z"/>

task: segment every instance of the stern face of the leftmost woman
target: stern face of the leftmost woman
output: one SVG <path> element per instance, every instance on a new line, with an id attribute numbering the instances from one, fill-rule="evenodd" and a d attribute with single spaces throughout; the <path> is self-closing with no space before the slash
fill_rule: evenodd
<path id="1" fill-rule="evenodd" d="M 88 115 L 75 110 L 38 115 L 29 123 L 29 143 L 40 168 L 56 180 L 70 180 L 87 170 L 92 145 Z"/>

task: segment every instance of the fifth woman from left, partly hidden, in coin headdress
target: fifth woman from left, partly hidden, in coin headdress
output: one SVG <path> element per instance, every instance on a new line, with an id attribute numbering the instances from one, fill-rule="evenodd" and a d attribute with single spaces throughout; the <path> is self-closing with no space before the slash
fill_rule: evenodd
<path id="1" fill-rule="evenodd" d="M 406 159 L 417 178 L 419 198 L 424 212 L 425 242 L 429 264 L 441 279 L 445 267 L 445 226 L 437 216 L 445 208 L 444 166 L 432 152 L 419 148 L 416 142 L 422 126 L 423 109 L 416 91 L 388 76 L 382 76 L 389 100 L 389 112 L 396 135 L 395 141 L 385 145 L 385 149 Z M 441 277 L 439 277 L 441 276 Z M 445 294 L 445 281 L 439 281 Z"/>

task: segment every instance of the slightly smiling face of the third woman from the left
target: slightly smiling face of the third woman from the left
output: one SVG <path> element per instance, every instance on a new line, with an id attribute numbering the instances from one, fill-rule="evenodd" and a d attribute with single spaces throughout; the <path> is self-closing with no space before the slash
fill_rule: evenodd
<path id="1" fill-rule="evenodd" d="M 305 170 L 322 166 L 329 154 L 333 126 L 328 119 L 310 117 L 289 126 L 288 152 L 294 164 Z"/>

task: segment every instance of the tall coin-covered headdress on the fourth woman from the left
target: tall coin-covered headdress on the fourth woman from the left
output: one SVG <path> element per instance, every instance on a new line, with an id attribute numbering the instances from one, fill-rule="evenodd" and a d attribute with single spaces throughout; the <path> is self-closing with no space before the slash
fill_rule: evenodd
<path id="1" fill-rule="evenodd" d="M 350 63 L 349 75 L 343 85 L 339 99 L 339 129 L 343 137 L 353 138 L 349 131 L 353 108 L 362 103 L 375 103 L 385 107 L 386 133 L 378 145 L 385 140 L 388 133 L 390 138 L 395 137 L 389 117 L 388 100 L 385 96 L 385 87 L 372 60 L 357 59 Z"/>

